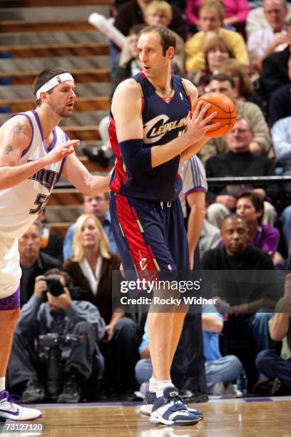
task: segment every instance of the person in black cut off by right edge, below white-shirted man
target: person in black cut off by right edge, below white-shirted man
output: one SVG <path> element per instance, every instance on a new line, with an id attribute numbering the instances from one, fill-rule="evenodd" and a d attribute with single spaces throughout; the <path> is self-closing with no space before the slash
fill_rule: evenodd
<path id="1" fill-rule="evenodd" d="M 272 93 L 280 88 L 280 86 L 290 84 L 288 63 L 291 51 L 291 19 L 287 21 L 286 28 L 288 37 L 287 47 L 282 51 L 270 54 L 262 61 L 262 92 L 267 101 L 270 101 Z"/>

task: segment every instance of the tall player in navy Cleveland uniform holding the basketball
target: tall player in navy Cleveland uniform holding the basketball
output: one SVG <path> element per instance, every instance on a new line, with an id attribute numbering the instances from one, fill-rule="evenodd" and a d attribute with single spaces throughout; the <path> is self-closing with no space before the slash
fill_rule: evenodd
<path id="1" fill-rule="evenodd" d="M 170 74 L 175 37 L 163 26 L 141 31 L 138 51 L 143 71 L 123 81 L 111 106 L 109 137 L 116 154 L 111 178 L 111 219 L 124 270 L 189 270 L 178 175 L 181 162 L 208 141 L 215 112 L 197 105 L 198 91 Z M 143 272 L 142 272 L 143 273 Z M 187 308 L 185 308 L 185 312 Z M 146 402 L 151 423 L 193 425 L 201 413 L 190 410 L 170 380 L 170 366 L 185 313 L 148 313 L 153 377 Z"/>

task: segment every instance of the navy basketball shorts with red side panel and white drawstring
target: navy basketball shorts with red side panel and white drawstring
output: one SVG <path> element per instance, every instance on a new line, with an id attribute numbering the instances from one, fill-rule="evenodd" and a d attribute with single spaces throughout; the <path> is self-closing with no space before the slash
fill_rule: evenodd
<path id="1" fill-rule="evenodd" d="M 153 202 L 111 192 L 110 214 L 124 271 L 189 271 L 179 199 Z"/>

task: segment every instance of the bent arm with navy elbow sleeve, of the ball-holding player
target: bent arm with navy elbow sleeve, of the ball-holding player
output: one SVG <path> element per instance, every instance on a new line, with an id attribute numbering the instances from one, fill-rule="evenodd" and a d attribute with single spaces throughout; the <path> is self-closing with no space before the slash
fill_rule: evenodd
<path id="1" fill-rule="evenodd" d="M 143 119 L 141 90 L 134 79 L 128 79 L 118 85 L 113 96 L 112 113 L 116 124 L 116 134 L 123 162 L 131 174 L 140 174 L 153 169 L 181 154 L 193 143 L 203 139 L 205 132 L 211 129 L 211 119 L 215 114 L 205 117 L 210 105 L 201 109 L 198 104 L 190 118 L 187 131 L 183 136 L 150 149 L 143 148 Z"/>

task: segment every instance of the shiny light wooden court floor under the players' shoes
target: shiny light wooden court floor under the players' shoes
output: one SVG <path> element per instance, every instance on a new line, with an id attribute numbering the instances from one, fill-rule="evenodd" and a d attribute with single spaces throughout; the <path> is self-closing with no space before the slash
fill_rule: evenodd
<path id="1" fill-rule="evenodd" d="M 5 437 L 291 437 L 291 397 L 280 401 L 225 400 L 196 404 L 205 419 L 195 426 L 153 426 L 138 406 L 39 406 L 44 433 Z M 2 434 L 0 433 L 0 436 Z"/>

